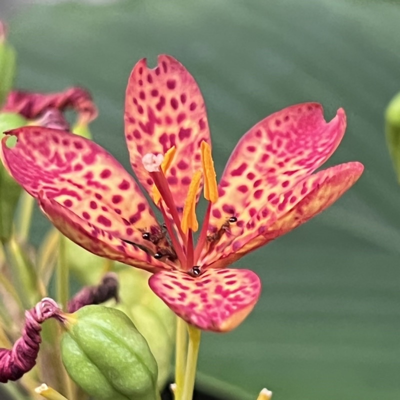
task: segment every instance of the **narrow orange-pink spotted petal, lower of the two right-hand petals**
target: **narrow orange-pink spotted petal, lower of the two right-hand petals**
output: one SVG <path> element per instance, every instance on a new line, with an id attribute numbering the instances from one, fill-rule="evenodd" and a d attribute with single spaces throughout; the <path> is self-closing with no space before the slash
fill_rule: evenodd
<path id="1" fill-rule="evenodd" d="M 275 202 L 276 220 L 265 223 L 263 218 L 267 204 L 247 222 L 245 233 L 233 240 L 231 246 L 219 244 L 212 253 L 201 260 L 202 265 L 222 268 L 244 254 L 294 229 L 314 215 L 329 207 L 359 178 L 363 165 L 348 162 L 335 165 L 298 182 L 290 190 L 281 193 Z"/>

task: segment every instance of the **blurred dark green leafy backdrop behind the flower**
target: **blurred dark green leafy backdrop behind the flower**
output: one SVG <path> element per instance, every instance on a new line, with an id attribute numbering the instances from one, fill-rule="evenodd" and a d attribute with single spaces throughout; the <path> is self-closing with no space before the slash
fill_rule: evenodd
<path id="1" fill-rule="evenodd" d="M 400 187 L 383 135 L 400 90 L 395 1 L 122 1 L 34 5 L 11 21 L 20 87 L 88 87 L 95 139 L 128 166 L 122 126 L 132 65 L 170 53 L 204 94 L 217 170 L 255 122 L 289 104 L 342 106 L 348 128 L 329 164 L 359 160 L 360 181 L 329 210 L 237 266 L 260 301 L 228 334 L 203 335 L 199 369 L 273 400 L 400 398 Z M 46 227 L 38 217 L 37 237 Z M 244 398 L 242 396 L 242 398 Z"/>

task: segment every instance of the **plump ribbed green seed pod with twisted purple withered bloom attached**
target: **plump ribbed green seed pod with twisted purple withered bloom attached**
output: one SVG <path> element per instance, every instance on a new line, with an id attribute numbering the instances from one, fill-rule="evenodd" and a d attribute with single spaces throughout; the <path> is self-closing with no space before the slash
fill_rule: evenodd
<path id="1" fill-rule="evenodd" d="M 67 317 L 62 362 L 96 400 L 156 400 L 157 364 L 146 340 L 122 312 L 87 305 Z"/>

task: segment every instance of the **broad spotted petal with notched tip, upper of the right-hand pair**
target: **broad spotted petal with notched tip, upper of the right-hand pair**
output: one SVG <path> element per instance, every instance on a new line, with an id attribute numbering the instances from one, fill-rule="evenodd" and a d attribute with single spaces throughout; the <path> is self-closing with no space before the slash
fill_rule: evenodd
<path id="1" fill-rule="evenodd" d="M 317 103 L 292 105 L 254 125 L 237 143 L 222 174 L 210 233 L 230 216 L 246 223 L 272 198 L 311 174 L 336 149 L 345 126 L 343 109 L 326 122 Z"/>

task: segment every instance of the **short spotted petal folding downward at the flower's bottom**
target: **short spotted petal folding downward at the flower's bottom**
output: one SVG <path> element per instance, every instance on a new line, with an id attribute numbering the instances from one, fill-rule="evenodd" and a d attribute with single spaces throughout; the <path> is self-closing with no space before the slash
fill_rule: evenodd
<path id="1" fill-rule="evenodd" d="M 261 290 L 259 277 L 247 269 L 210 269 L 196 277 L 160 271 L 150 276 L 148 284 L 186 322 L 216 332 L 239 325 Z"/>

